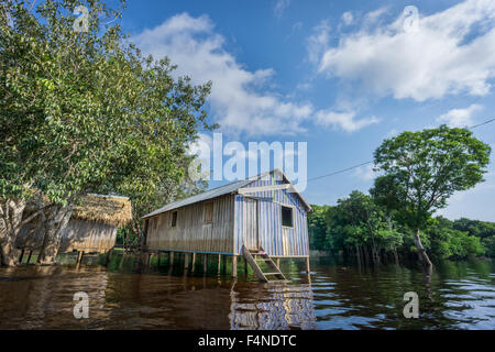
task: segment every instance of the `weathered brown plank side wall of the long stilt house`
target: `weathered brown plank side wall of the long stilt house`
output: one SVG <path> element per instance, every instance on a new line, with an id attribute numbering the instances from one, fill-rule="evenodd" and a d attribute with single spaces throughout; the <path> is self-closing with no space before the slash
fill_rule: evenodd
<path id="1" fill-rule="evenodd" d="M 232 253 L 233 195 L 210 199 L 213 219 L 205 223 L 204 204 L 198 202 L 167 211 L 148 219 L 146 246 L 153 250 Z M 177 226 L 170 226 L 172 213 L 177 211 Z"/>

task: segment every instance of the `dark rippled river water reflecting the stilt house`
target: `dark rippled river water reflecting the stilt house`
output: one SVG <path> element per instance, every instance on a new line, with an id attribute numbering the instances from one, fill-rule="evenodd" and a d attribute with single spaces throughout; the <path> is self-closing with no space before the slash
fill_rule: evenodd
<path id="1" fill-rule="evenodd" d="M 163 260 L 162 260 L 163 261 Z M 330 257 L 282 262 L 287 284 L 261 284 L 207 275 L 180 264 L 170 270 L 132 255 L 88 257 L 76 267 L 24 265 L 0 268 L 0 329 L 494 329 L 495 261 L 441 262 L 430 280 L 396 265 L 342 266 Z M 177 260 L 176 260 L 177 262 Z M 87 293 L 89 318 L 74 317 L 74 294 Z M 419 297 L 419 318 L 406 319 L 404 294 Z"/>

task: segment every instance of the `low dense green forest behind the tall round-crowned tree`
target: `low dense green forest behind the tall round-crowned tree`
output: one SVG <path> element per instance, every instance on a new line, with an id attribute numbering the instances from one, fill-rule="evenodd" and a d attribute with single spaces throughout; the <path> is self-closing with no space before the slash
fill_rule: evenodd
<path id="1" fill-rule="evenodd" d="M 417 258 L 414 229 L 396 221 L 369 195 L 353 191 L 337 206 L 312 208 L 308 215 L 311 250 L 375 264 Z M 495 257 L 495 222 L 430 218 L 421 241 L 433 260 Z"/>

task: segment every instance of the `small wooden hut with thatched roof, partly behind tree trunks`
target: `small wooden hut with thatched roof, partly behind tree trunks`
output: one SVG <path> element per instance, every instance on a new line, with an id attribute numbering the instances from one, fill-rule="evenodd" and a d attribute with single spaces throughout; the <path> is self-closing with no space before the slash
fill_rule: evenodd
<path id="1" fill-rule="evenodd" d="M 34 204 L 29 205 L 25 217 L 34 209 Z M 129 198 L 86 195 L 78 200 L 70 221 L 63 230 L 59 252 L 107 252 L 116 244 L 117 229 L 128 224 L 131 219 Z M 15 245 L 19 249 L 38 250 L 43 237 L 43 227 L 40 218 L 36 218 L 21 229 Z"/>

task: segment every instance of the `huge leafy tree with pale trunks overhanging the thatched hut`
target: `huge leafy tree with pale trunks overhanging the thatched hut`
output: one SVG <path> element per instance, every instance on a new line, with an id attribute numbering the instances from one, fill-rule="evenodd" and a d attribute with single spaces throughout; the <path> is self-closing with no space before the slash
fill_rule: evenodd
<path id="1" fill-rule="evenodd" d="M 75 31 L 72 13 L 85 3 L 87 31 Z M 38 262 L 50 264 L 79 196 L 121 191 L 144 202 L 173 188 L 198 128 L 209 128 L 202 106 L 210 85 L 195 87 L 172 76 L 168 59 L 143 57 L 117 22 L 105 25 L 121 16 L 118 10 L 101 0 L 33 4 L 7 1 L 1 22 L 0 227 L 8 265 L 15 264 L 11 244 L 33 189 L 50 200 L 36 212 L 45 230 Z"/>

